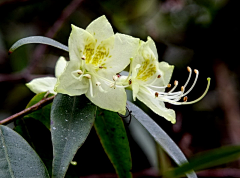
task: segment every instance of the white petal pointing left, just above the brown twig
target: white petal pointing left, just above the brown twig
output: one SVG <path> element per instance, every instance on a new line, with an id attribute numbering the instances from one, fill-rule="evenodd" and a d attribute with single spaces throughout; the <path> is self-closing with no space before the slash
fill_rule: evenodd
<path id="1" fill-rule="evenodd" d="M 38 94 L 41 92 L 49 91 L 50 93 L 56 94 L 54 91 L 54 86 L 57 82 L 55 77 L 42 77 L 33 79 L 31 82 L 27 83 L 27 87 L 34 93 Z"/>

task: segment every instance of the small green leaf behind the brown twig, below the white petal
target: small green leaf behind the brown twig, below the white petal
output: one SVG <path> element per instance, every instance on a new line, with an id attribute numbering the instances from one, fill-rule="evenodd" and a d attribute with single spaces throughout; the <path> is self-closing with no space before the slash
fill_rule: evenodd
<path id="1" fill-rule="evenodd" d="M 43 99 L 43 97 L 45 96 L 46 92 L 43 93 L 39 93 L 37 95 L 35 95 L 31 101 L 28 103 L 26 108 L 29 108 L 31 106 L 33 106 L 34 104 L 38 103 L 39 101 L 41 101 Z M 53 96 L 53 94 L 49 94 L 48 97 Z M 27 116 L 25 116 L 25 118 L 34 118 L 36 120 L 39 120 L 40 122 L 42 122 L 48 129 L 50 129 L 50 112 L 51 112 L 51 106 L 52 104 L 48 104 L 44 107 L 42 107 L 39 110 L 36 110 L 30 114 L 28 114 Z"/>

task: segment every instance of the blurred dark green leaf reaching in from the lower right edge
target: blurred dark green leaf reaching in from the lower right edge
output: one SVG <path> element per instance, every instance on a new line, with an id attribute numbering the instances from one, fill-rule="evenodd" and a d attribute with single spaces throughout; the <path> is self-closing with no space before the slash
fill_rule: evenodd
<path id="1" fill-rule="evenodd" d="M 240 146 L 225 146 L 207 152 L 199 153 L 189 160 L 189 163 L 168 172 L 168 177 L 180 177 L 190 170 L 202 170 L 234 161 L 240 157 Z"/>

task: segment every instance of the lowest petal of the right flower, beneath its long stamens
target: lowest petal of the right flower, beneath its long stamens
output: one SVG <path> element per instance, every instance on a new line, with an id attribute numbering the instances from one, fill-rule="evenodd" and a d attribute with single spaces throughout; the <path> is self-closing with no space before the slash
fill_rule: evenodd
<path id="1" fill-rule="evenodd" d="M 156 114 L 164 117 L 173 124 L 176 123 L 175 111 L 172 109 L 167 109 L 162 101 L 159 101 L 154 97 L 150 97 L 142 91 L 139 91 L 137 98 Z"/>

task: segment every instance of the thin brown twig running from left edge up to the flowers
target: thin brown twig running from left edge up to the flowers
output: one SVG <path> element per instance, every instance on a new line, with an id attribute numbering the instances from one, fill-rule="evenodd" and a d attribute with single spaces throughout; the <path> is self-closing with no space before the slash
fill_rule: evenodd
<path id="1" fill-rule="evenodd" d="M 36 110 L 39 110 L 41 109 L 43 106 L 46 106 L 47 104 L 51 103 L 54 99 L 55 95 L 54 96 L 51 96 L 49 98 L 43 98 L 41 101 L 39 101 L 38 103 L 34 104 L 33 106 L 29 107 L 29 108 L 26 108 L 24 110 L 22 110 L 21 112 L 19 113 L 16 113 L 6 119 L 3 119 L 0 121 L 0 125 L 3 125 L 3 124 L 8 124 L 18 118 L 21 118 L 29 113 L 32 113 L 33 111 L 36 111 Z"/>

